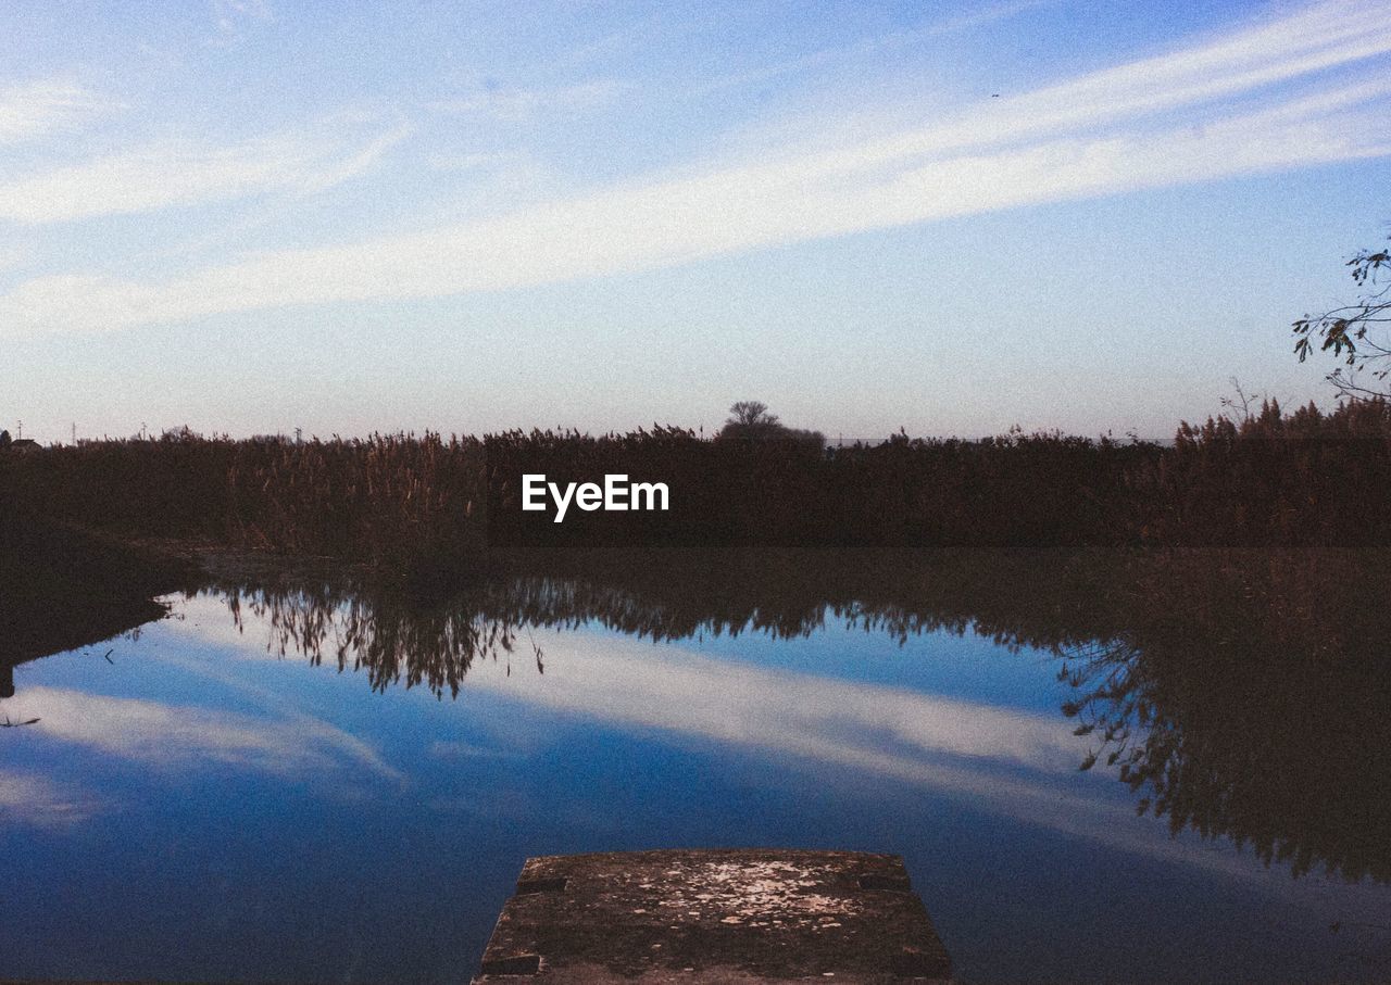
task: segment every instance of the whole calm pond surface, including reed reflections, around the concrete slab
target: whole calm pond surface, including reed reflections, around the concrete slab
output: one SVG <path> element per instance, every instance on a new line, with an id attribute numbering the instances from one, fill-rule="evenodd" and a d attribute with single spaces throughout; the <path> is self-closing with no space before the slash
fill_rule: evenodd
<path id="1" fill-rule="evenodd" d="M 1127 622 L 1157 589 L 986 572 L 971 613 L 960 575 L 701 571 L 428 606 L 224 582 L 18 665 L 0 974 L 466 981 L 527 856 L 766 845 L 903 854 L 965 981 L 1391 977 L 1380 678 L 1310 699 L 1166 650 L 1327 657 L 1317 624 L 1257 620 L 1278 583 Z"/>

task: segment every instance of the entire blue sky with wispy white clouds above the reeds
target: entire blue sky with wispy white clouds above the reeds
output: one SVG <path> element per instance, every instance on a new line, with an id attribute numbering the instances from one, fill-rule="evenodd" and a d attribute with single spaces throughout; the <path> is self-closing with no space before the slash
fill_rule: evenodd
<path id="1" fill-rule="evenodd" d="M 7 0 L 0 427 L 1168 436 L 1388 178 L 1377 0 Z"/>

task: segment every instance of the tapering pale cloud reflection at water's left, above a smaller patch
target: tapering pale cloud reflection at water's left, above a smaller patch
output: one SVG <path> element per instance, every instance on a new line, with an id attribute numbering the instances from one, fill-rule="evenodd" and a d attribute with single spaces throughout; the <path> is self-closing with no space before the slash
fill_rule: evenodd
<path id="1" fill-rule="evenodd" d="M 274 721 L 196 706 L 32 688 L 43 735 L 154 768 L 225 763 L 277 777 L 313 777 L 339 765 L 399 778 L 360 739 L 310 718 Z"/>

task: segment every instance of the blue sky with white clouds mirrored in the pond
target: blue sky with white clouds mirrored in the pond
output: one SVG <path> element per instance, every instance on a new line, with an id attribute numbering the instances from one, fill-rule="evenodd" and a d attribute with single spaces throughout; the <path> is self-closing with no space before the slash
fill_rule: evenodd
<path id="1" fill-rule="evenodd" d="M 544 675 L 523 632 L 451 702 L 177 611 L 114 664 L 17 668 L 0 707 L 42 721 L 0 734 L 4 974 L 460 981 L 526 856 L 677 845 L 901 853 L 974 979 L 1387 971 L 1348 957 L 1385 932 L 1328 932 L 1385 924 L 1384 888 L 1171 841 L 1079 774 L 1039 652 L 534 631 Z"/>

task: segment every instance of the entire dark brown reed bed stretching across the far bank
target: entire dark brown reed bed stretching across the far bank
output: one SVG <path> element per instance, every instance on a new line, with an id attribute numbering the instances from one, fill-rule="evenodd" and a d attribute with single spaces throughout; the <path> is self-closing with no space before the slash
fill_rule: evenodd
<path id="1" fill-rule="evenodd" d="M 661 513 L 522 510 L 522 477 L 665 482 Z M 83 442 L 0 454 L 0 511 L 127 538 L 467 570 L 490 546 L 1349 546 L 1391 540 L 1391 406 L 1182 425 L 1173 446 L 1011 433 L 874 447 L 505 432 Z"/>

